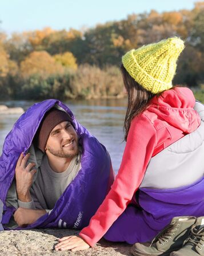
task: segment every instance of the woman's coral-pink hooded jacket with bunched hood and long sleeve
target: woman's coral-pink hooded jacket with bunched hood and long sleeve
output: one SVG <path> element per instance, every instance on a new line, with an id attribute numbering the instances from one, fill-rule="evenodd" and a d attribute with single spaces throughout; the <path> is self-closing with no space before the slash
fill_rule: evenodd
<path id="1" fill-rule="evenodd" d="M 139 188 L 151 157 L 201 123 L 194 110 L 195 98 L 188 88 L 167 90 L 151 99 L 150 106 L 130 125 L 121 166 L 110 192 L 79 235 L 94 246 L 125 211 Z"/>

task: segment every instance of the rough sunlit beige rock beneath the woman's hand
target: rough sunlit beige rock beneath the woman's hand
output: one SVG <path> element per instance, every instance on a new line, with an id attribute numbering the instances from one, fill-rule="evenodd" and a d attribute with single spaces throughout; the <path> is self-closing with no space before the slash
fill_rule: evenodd
<path id="1" fill-rule="evenodd" d="M 67 229 L 33 229 L 33 230 L 11 230 L 0 231 L 0 255 L 10 256 L 34 256 L 34 255 L 127 255 L 131 256 L 130 247 L 126 243 L 111 243 L 101 239 L 97 246 L 75 253 L 55 251 L 54 246 L 58 238 L 63 236 L 76 235 L 78 231 Z"/>

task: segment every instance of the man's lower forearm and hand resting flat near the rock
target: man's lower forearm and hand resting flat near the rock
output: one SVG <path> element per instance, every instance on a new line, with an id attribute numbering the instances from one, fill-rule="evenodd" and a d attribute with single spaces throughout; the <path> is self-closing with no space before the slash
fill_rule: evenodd
<path id="1" fill-rule="evenodd" d="M 33 210 L 19 207 L 14 213 L 14 220 L 19 227 L 34 223 L 41 216 L 46 214 L 46 210 Z"/>

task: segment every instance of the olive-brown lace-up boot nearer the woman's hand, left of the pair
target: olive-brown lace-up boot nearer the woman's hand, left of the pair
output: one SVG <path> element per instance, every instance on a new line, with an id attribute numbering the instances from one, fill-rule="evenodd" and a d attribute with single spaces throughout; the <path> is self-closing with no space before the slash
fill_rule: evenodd
<path id="1" fill-rule="evenodd" d="M 180 249 L 188 237 L 191 226 L 195 223 L 193 216 L 175 217 L 151 242 L 135 243 L 131 253 L 135 256 L 169 256 L 172 251 Z M 183 255 L 184 256 L 184 255 Z"/>

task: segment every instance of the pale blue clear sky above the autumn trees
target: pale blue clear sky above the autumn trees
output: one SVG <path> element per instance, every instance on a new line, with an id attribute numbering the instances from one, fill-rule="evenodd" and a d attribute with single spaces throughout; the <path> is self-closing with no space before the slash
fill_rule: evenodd
<path id="1" fill-rule="evenodd" d="M 201 0 L 200 0 L 201 1 Z M 0 0 L 0 30 L 11 34 L 50 27 L 93 28 L 129 14 L 159 13 L 194 7 L 195 0 Z"/>

